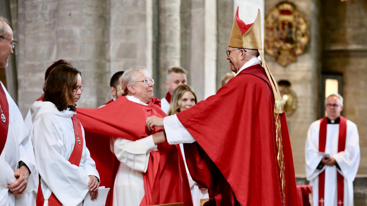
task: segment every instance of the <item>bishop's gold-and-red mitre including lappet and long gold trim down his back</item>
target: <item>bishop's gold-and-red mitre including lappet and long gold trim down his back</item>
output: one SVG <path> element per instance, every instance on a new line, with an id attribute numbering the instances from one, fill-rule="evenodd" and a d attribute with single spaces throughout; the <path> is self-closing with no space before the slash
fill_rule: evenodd
<path id="1" fill-rule="evenodd" d="M 278 148 L 277 162 L 278 162 L 278 166 L 280 169 L 279 177 L 281 181 L 283 203 L 285 204 L 286 202 L 285 169 L 286 168 L 284 166 L 283 138 L 281 136 L 281 123 L 280 123 L 280 114 L 283 113 L 284 111 L 283 100 L 281 99 L 278 84 L 265 62 L 264 51 L 262 50 L 262 40 L 261 40 L 260 10 L 258 10 L 258 14 L 257 14 L 255 22 L 246 24 L 239 18 L 238 9 L 239 7 L 237 7 L 236 17 L 233 20 L 232 31 L 230 33 L 230 37 L 228 41 L 228 47 L 257 49 L 261 57 L 262 65 L 264 66 L 266 76 L 268 76 L 269 82 L 273 89 L 274 99 L 275 99 L 274 117 L 275 117 L 275 125 L 276 125 L 276 144 Z"/>

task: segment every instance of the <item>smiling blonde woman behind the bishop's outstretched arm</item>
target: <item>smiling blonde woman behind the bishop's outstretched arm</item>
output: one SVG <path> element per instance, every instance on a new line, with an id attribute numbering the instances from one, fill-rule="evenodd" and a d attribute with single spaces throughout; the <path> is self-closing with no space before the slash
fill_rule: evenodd
<path id="1" fill-rule="evenodd" d="M 170 110 L 168 115 L 177 114 L 183 110 L 186 110 L 197 103 L 197 98 L 194 90 L 189 85 L 180 85 L 174 91 L 171 99 Z M 185 160 L 185 152 L 183 151 L 183 144 L 180 144 L 182 157 Z M 192 180 L 189 170 L 185 161 L 186 172 L 189 179 L 192 203 L 193 206 L 200 206 L 200 199 L 209 198 L 208 190 L 206 188 L 199 187 L 199 185 Z"/>

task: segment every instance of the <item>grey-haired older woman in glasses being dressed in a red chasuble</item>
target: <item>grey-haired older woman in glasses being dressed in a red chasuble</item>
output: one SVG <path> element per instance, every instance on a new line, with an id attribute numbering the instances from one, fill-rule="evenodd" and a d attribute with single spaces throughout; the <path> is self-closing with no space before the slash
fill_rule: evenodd
<path id="1" fill-rule="evenodd" d="M 78 108 L 88 133 L 101 135 L 99 139 L 87 136 L 88 145 L 100 145 L 106 136 L 111 137 L 111 150 L 118 166 L 114 182 L 106 185 L 113 187 L 112 201 L 108 200 L 108 205 L 185 202 L 192 206 L 179 146 L 170 146 L 160 128 L 149 130 L 144 123 L 150 115 L 166 116 L 160 108 L 160 100 L 153 97 L 154 80 L 145 68 L 133 67 L 124 72 L 121 85 L 123 96 L 116 101 L 98 109 Z M 90 137 L 94 139 L 89 141 Z M 101 162 L 101 168 L 106 167 L 107 161 L 106 158 L 97 159 L 97 166 Z M 110 169 L 103 170 L 106 172 L 101 173 L 102 178 L 108 176 Z"/>

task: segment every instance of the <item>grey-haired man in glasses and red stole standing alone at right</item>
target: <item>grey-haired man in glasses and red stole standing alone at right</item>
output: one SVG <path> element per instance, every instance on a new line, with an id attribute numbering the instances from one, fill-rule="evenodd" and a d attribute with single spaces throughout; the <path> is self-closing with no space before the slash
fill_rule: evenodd
<path id="1" fill-rule="evenodd" d="M 308 129 L 306 178 L 319 205 L 353 206 L 353 180 L 360 161 L 356 124 L 340 115 L 343 98 L 334 93 L 325 100 L 327 116 Z"/>

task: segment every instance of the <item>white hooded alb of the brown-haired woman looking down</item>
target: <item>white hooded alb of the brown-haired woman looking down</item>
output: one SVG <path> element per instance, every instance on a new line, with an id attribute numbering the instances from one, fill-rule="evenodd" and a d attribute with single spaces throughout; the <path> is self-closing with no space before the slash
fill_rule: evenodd
<path id="1" fill-rule="evenodd" d="M 95 162 L 90 157 L 83 133 L 83 152 L 79 167 L 68 159 L 75 146 L 71 117 L 73 111 L 59 111 L 51 102 L 36 102 L 31 107 L 33 125 L 30 131 L 37 169 L 41 176 L 44 199 L 51 191 L 62 205 L 82 205 L 88 192 L 89 176 L 99 178 Z M 45 201 L 47 206 L 48 202 Z"/>

